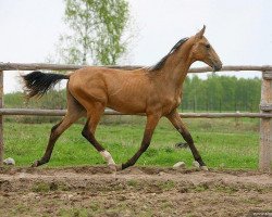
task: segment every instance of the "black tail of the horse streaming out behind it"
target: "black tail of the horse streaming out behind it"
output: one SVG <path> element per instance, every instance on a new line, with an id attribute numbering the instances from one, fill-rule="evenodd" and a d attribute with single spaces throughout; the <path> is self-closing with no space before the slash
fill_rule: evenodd
<path id="1" fill-rule="evenodd" d="M 22 76 L 28 98 L 42 97 L 50 88 L 62 79 L 69 79 L 67 75 L 33 72 Z"/>

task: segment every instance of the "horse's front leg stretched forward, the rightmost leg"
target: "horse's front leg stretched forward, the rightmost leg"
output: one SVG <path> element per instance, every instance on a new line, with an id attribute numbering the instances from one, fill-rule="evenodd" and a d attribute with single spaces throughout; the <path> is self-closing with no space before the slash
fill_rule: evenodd
<path id="1" fill-rule="evenodd" d="M 193 156 L 195 161 L 197 161 L 200 165 L 200 168 L 203 170 L 208 170 L 206 164 L 203 163 L 199 152 L 197 151 L 197 148 L 195 146 L 194 140 L 185 127 L 185 125 L 182 122 L 182 118 L 180 117 L 177 111 L 172 112 L 170 115 L 166 116 L 169 120 L 172 123 L 172 125 L 177 129 L 177 131 L 183 136 L 184 140 L 187 142 L 187 144 L 190 148 L 190 151 L 193 153 Z"/>

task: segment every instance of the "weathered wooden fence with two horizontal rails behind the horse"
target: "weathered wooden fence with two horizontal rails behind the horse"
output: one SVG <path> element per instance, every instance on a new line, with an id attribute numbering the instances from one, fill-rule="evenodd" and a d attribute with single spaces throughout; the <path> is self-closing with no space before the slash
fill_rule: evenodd
<path id="1" fill-rule="evenodd" d="M 4 108 L 3 106 L 3 71 L 75 71 L 85 67 L 84 65 L 57 65 L 57 64 L 21 64 L 0 63 L 0 166 L 3 161 L 3 115 L 42 115 L 63 116 L 64 110 L 26 110 L 26 108 Z M 144 66 L 104 66 L 110 68 L 136 69 Z M 211 72 L 210 67 L 190 68 L 189 73 Z M 250 117 L 261 118 L 260 122 L 260 151 L 259 169 L 272 171 L 272 66 L 223 66 L 221 72 L 245 72 L 257 71 L 262 73 L 260 113 L 181 113 L 182 117 L 189 118 L 226 118 L 226 117 Z M 127 115 L 115 111 L 106 111 L 104 115 Z M 139 114 L 144 115 L 144 114 Z"/>

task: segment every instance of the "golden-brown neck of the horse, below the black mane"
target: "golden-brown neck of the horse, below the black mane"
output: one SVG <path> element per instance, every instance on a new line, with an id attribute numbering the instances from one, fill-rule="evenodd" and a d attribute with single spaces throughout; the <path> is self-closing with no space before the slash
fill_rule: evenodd
<path id="1" fill-rule="evenodd" d="M 181 51 L 169 56 L 162 68 L 161 75 L 164 82 L 172 85 L 175 89 L 182 88 L 182 84 L 194 62 L 190 58 L 190 44 L 184 44 Z"/>

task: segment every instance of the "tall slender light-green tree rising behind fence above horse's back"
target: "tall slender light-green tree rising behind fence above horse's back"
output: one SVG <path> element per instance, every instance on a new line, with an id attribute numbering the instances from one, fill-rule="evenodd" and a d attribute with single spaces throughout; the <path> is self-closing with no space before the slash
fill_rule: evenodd
<path id="1" fill-rule="evenodd" d="M 129 12 L 125 0 L 64 0 L 59 59 L 70 64 L 113 65 L 125 53 Z"/>

